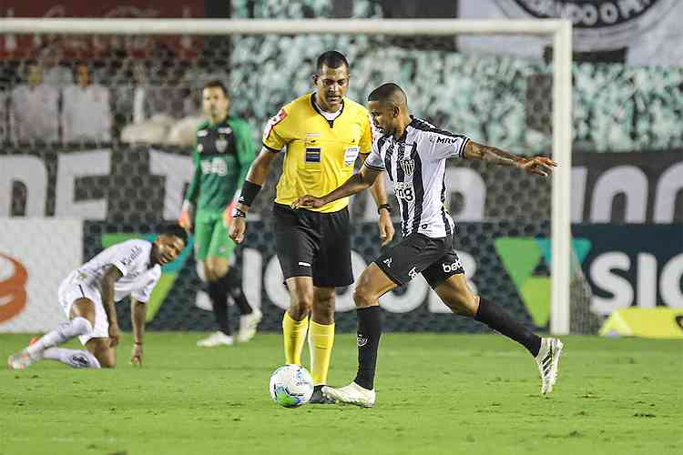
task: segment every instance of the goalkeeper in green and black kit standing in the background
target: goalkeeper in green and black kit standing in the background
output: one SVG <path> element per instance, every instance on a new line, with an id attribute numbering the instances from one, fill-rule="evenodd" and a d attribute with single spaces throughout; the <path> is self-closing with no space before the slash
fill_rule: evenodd
<path id="1" fill-rule="evenodd" d="M 187 230 L 194 227 L 195 258 L 202 263 L 219 326 L 217 332 L 200 339 L 197 345 L 229 346 L 233 337 L 228 296 L 240 308 L 239 341 L 253 338 L 262 317 L 260 310 L 251 308 L 244 296 L 239 269 L 230 267 L 235 243 L 227 231 L 231 221 L 228 207 L 247 175 L 255 150 L 247 122 L 228 116 L 228 91 L 220 81 L 203 87 L 202 108 L 208 120 L 197 128 L 192 156 L 195 170 L 178 223 Z"/>

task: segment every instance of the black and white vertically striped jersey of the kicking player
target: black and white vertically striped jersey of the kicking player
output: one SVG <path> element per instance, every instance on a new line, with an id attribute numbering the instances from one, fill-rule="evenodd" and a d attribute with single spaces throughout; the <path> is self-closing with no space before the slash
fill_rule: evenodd
<path id="1" fill-rule="evenodd" d="M 446 159 L 464 157 L 469 139 L 412 118 L 400 139 L 387 135 L 372 141 L 365 166 L 389 174 L 401 208 L 403 237 L 413 232 L 430 238 L 450 236 L 454 222 L 443 207 Z"/>

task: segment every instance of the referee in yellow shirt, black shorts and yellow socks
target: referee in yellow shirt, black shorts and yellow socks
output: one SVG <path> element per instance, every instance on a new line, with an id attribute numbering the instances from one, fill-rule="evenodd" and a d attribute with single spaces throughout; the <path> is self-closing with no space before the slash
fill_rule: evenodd
<path id="1" fill-rule="evenodd" d="M 263 147 L 233 211 L 229 236 L 237 243 L 244 239 L 249 207 L 268 177 L 270 163 L 287 147 L 273 207 L 276 252 L 291 299 L 282 320 L 285 360 L 301 365 L 308 331 L 315 385 L 310 402 L 326 403 L 331 401 L 321 389 L 327 382 L 334 342 L 335 288 L 353 282 L 349 199 L 296 211 L 290 206 L 306 194 L 321 197 L 351 177 L 359 155 L 364 160 L 371 151 L 372 127 L 367 109 L 344 96 L 349 62 L 341 53 L 327 51 L 318 57 L 313 84 L 314 92 L 296 98 L 270 118 Z M 384 180 L 376 182 L 372 197 L 384 245 L 393 238 L 391 208 Z"/>

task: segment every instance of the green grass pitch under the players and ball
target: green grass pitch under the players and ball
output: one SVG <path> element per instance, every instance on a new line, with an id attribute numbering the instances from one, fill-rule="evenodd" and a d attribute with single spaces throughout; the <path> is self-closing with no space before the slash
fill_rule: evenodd
<path id="1" fill-rule="evenodd" d="M 148 333 L 142 369 L 127 334 L 117 369 L 0 371 L 0 454 L 683 453 L 680 341 L 566 337 L 543 397 L 502 336 L 385 334 L 375 408 L 289 410 L 268 393 L 280 335 L 199 349 L 201 335 Z M 0 335 L 0 355 L 27 338 Z M 337 336 L 331 385 L 352 379 L 354 341 Z"/>

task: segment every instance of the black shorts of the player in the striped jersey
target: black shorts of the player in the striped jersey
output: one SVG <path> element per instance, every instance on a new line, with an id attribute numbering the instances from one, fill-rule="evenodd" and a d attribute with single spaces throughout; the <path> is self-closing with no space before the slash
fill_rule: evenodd
<path id="1" fill-rule="evenodd" d="M 429 238 L 413 233 L 389 248 L 374 263 L 399 286 L 422 273 L 429 286 L 435 288 L 446 278 L 464 273 L 450 236 Z"/>

